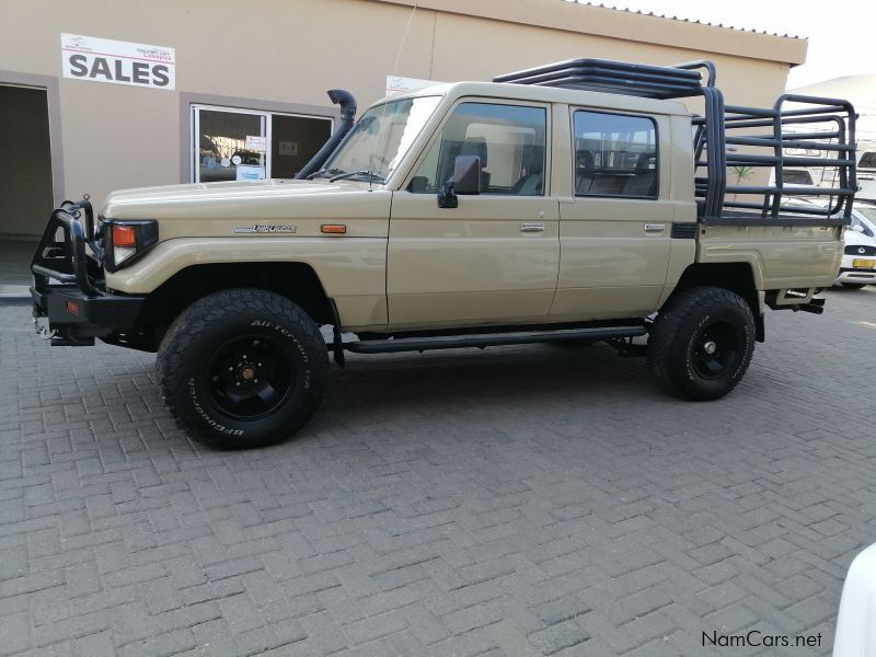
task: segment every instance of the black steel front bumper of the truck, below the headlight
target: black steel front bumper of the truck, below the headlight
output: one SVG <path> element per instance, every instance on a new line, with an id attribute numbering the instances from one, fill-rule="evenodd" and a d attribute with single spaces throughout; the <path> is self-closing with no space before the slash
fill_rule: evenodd
<path id="1" fill-rule="evenodd" d="M 95 337 L 125 334 L 135 325 L 143 297 L 103 295 L 89 297 L 76 285 L 31 288 L 38 333 L 47 333 L 53 345 L 90 346 Z M 48 319 L 48 331 L 38 319 Z"/>

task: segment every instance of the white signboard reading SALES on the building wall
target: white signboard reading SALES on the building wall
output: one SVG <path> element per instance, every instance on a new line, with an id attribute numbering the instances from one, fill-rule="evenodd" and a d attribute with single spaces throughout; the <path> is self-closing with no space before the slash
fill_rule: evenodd
<path id="1" fill-rule="evenodd" d="M 61 70 L 65 78 L 176 88 L 176 50 L 129 42 L 61 34 Z"/>

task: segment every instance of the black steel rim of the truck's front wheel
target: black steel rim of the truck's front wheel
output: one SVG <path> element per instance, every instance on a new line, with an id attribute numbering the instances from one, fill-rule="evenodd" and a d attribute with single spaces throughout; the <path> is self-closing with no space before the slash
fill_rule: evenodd
<path id="1" fill-rule="evenodd" d="M 296 369 L 295 359 L 276 338 L 263 334 L 233 337 L 208 358 L 209 399 L 237 420 L 267 417 L 291 394 Z"/>

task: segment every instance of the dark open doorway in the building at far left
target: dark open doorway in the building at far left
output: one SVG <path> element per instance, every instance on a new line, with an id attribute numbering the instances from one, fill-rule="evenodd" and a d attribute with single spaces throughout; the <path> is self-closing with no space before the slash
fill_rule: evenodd
<path id="1" fill-rule="evenodd" d="M 0 286 L 30 285 L 28 265 L 53 210 L 45 89 L 0 85 Z"/>

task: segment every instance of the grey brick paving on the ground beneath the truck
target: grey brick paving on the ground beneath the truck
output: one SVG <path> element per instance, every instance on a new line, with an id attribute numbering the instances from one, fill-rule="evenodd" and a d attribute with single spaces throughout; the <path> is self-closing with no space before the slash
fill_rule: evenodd
<path id="1" fill-rule="evenodd" d="M 827 296 L 721 402 L 601 345 L 350 356 L 243 452 L 174 428 L 153 356 L 2 307 L 0 654 L 827 654 L 876 541 L 876 289 Z"/>

